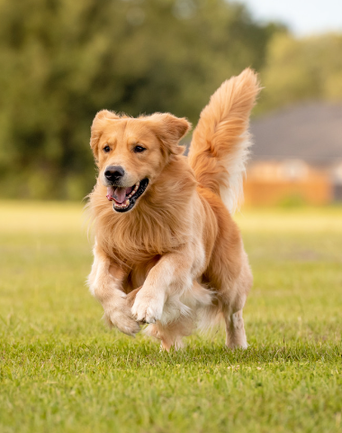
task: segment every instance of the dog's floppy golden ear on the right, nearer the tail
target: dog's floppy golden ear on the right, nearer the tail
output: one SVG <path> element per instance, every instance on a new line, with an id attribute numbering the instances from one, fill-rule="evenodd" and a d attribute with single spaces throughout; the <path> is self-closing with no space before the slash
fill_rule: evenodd
<path id="1" fill-rule="evenodd" d="M 150 116 L 157 138 L 163 144 L 166 154 L 179 155 L 184 152 L 183 146 L 178 146 L 182 137 L 191 129 L 191 124 L 184 117 L 175 117 L 168 113 L 156 113 Z"/>

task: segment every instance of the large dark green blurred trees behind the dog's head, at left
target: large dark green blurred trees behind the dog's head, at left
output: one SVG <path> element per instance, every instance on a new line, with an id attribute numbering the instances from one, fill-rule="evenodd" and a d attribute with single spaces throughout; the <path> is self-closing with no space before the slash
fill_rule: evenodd
<path id="1" fill-rule="evenodd" d="M 0 0 L 0 194 L 82 198 L 99 109 L 196 121 L 278 30 L 224 0 Z"/>

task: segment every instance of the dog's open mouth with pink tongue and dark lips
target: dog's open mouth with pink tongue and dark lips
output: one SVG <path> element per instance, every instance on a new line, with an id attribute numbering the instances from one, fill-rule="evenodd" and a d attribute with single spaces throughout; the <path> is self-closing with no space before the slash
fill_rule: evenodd
<path id="1" fill-rule="evenodd" d="M 116 187 L 111 185 L 107 188 L 109 201 L 112 201 L 112 208 L 116 212 L 127 212 L 134 207 L 137 199 L 143 194 L 148 186 L 148 179 L 143 179 L 129 188 Z"/>

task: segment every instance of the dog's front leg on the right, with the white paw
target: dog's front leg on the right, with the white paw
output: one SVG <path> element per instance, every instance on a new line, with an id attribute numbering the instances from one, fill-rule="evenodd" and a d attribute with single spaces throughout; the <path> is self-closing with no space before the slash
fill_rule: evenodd
<path id="1" fill-rule="evenodd" d="M 189 253 L 166 253 L 148 272 L 131 309 L 138 322 L 155 323 L 163 314 L 168 296 L 190 289 L 193 260 Z"/>

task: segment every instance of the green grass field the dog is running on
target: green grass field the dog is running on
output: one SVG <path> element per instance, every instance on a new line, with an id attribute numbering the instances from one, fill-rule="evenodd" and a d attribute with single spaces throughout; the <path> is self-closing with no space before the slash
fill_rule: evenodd
<path id="1" fill-rule="evenodd" d="M 237 217 L 249 347 L 107 329 L 81 206 L 0 202 L 0 432 L 341 432 L 342 208 Z"/>

